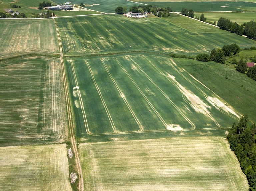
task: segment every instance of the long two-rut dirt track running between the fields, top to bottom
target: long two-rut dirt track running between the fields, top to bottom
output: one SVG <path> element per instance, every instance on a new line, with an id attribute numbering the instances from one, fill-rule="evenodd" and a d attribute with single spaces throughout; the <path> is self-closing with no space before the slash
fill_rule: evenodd
<path id="1" fill-rule="evenodd" d="M 54 21 L 55 26 L 56 26 L 57 37 L 58 37 L 59 46 L 60 46 L 60 62 L 61 62 L 63 81 L 64 81 L 65 99 L 66 99 L 67 114 L 68 114 L 68 126 L 69 126 L 69 132 L 70 132 L 70 140 L 71 140 L 71 143 L 72 143 L 73 152 L 74 152 L 75 160 L 76 160 L 76 166 L 77 166 L 77 170 L 78 170 L 79 191 L 84 191 L 84 181 L 83 181 L 83 175 L 82 175 L 82 168 L 81 168 L 80 158 L 79 158 L 79 155 L 78 155 L 78 149 L 77 149 L 77 146 L 76 146 L 76 138 L 75 138 L 74 131 L 73 131 L 74 125 L 73 125 L 72 112 L 71 112 L 71 103 L 70 103 L 69 94 L 68 94 L 68 84 L 67 84 L 67 81 L 66 81 L 65 67 L 64 67 L 64 62 L 63 62 L 63 51 L 62 51 L 62 46 L 61 46 L 60 34 L 59 34 L 58 27 L 57 27 L 57 23 L 56 23 L 54 18 L 53 18 L 53 21 Z"/>

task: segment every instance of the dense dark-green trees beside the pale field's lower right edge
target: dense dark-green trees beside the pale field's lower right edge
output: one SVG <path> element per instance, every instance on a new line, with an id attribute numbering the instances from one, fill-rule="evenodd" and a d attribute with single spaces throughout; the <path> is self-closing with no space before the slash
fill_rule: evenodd
<path id="1" fill-rule="evenodd" d="M 244 114 L 238 124 L 233 123 L 227 139 L 247 177 L 250 191 L 256 191 L 256 125 L 249 127 L 248 121 L 248 115 Z"/>

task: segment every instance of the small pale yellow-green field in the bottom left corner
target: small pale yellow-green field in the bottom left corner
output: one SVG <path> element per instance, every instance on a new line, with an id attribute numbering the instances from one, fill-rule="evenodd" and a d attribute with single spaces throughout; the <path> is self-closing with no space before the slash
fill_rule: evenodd
<path id="1" fill-rule="evenodd" d="M 72 191 L 65 144 L 0 147 L 0 190 Z"/>

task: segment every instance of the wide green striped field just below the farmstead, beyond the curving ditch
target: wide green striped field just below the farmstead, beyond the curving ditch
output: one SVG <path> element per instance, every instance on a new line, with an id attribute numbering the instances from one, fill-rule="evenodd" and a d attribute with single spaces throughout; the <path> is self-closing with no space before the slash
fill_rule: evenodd
<path id="1" fill-rule="evenodd" d="M 175 13 L 166 19 L 100 15 L 60 18 L 56 22 L 68 56 L 135 50 L 196 55 L 231 43 L 256 45 L 255 41 Z"/>

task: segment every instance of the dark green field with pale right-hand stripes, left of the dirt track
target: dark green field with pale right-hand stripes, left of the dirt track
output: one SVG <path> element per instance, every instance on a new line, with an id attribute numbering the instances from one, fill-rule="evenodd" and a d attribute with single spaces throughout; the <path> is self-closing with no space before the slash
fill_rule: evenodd
<path id="1" fill-rule="evenodd" d="M 0 63 L 0 145 L 64 141 L 68 137 L 62 71 L 57 59 Z"/>

